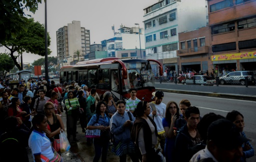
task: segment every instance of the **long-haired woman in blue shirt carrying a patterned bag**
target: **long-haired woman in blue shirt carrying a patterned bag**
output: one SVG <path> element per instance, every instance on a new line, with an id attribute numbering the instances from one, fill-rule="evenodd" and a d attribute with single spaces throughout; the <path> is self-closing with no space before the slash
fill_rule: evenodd
<path id="1" fill-rule="evenodd" d="M 95 123 L 100 124 L 99 126 L 94 126 Z M 90 118 L 87 124 L 87 129 L 100 129 L 100 138 L 94 138 L 93 144 L 95 149 L 95 156 L 93 162 L 97 162 L 101 155 L 101 161 L 106 161 L 106 154 L 108 149 L 108 142 L 111 137 L 109 131 L 110 118 L 106 110 L 106 104 L 103 101 L 99 101 L 96 106 L 96 112 Z"/>

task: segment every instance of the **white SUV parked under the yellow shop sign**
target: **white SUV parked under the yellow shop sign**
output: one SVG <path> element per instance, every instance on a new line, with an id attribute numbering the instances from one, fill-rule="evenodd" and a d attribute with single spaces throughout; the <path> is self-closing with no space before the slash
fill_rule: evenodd
<path id="1" fill-rule="evenodd" d="M 245 76 L 248 76 L 248 83 L 255 83 L 256 75 L 253 71 L 232 71 L 225 76 L 219 77 L 219 84 L 226 83 L 245 85 Z"/>

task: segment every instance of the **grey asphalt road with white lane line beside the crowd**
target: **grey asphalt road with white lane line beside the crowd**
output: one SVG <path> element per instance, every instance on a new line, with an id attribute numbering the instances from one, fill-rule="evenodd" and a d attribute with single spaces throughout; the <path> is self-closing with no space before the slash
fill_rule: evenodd
<path id="1" fill-rule="evenodd" d="M 245 135 L 251 139 L 250 143 L 254 148 L 254 154 L 256 154 L 256 101 L 164 92 L 163 103 L 166 104 L 173 100 L 178 104 L 181 99 L 188 99 L 191 105 L 198 107 L 200 116 L 214 112 L 225 117 L 229 111 L 239 111 L 244 117 L 245 127 L 243 130 Z M 256 156 L 254 155 L 246 161 L 256 161 Z"/>

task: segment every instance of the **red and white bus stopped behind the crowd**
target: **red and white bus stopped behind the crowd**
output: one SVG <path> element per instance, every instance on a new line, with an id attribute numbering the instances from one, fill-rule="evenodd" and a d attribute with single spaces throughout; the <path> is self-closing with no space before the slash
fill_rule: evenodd
<path id="1" fill-rule="evenodd" d="M 115 100 L 130 97 L 128 90 L 137 89 L 137 97 L 150 101 L 155 91 L 150 61 L 156 62 L 162 75 L 162 65 L 154 59 L 107 57 L 77 62 L 60 69 L 60 84 L 75 80 L 88 88 L 95 85 L 98 95 L 111 91 Z"/>

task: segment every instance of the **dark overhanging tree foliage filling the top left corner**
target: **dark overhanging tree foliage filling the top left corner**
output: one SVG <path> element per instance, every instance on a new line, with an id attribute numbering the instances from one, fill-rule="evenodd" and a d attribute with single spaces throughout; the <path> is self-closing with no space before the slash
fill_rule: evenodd
<path id="1" fill-rule="evenodd" d="M 28 18 L 23 10 L 34 13 L 41 0 L 0 0 L 0 43 L 15 38 L 28 29 Z"/>

